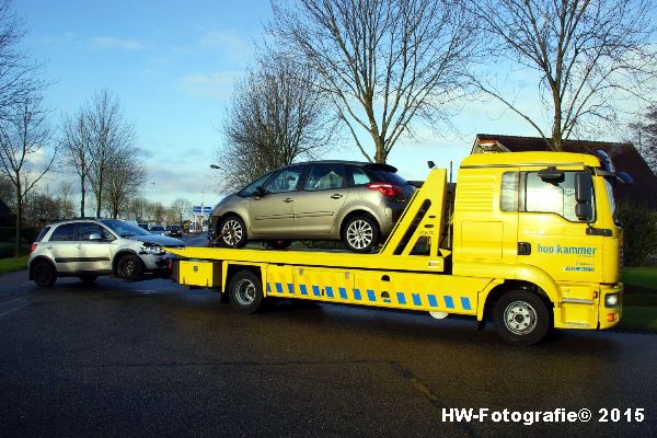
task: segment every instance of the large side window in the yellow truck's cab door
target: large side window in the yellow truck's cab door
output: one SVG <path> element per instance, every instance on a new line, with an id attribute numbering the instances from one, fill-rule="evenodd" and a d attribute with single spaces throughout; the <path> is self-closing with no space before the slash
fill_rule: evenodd
<path id="1" fill-rule="evenodd" d="M 554 212 L 569 221 L 579 221 L 575 215 L 575 174 L 564 172 L 562 182 L 549 182 L 541 180 L 538 172 L 528 172 L 525 210 Z"/>

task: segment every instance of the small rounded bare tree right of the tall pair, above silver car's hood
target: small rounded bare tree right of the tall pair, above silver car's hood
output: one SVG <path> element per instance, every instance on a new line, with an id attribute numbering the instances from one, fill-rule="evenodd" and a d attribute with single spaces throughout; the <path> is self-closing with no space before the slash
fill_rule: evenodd
<path id="1" fill-rule="evenodd" d="M 111 157 L 112 165 L 105 174 L 104 199 L 110 215 L 116 219 L 128 209 L 132 194 L 146 182 L 146 169 L 129 149 L 117 149 Z"/>

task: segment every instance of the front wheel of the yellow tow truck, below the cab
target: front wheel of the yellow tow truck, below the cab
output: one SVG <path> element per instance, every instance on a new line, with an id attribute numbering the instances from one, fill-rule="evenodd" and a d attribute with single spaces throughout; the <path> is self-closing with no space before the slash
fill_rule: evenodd
<path id="1" fill-rule="evenodd" d="M 533 345 L 543 339 L 551 326 L 550 311 L 543 300 L 526 290 L 503 295 L 493 309 L 497 334 L 516 345 Z"/>

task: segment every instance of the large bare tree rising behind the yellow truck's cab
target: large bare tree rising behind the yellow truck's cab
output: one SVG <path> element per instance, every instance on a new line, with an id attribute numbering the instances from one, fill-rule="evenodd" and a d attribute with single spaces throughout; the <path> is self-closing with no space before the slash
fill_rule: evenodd
<path id="1" fill-rule="evenodd" d="M 613 122 L 622 100 L 654 89 L 650 0 L 471 0 L 492 55 L 538 73 L 550 114 L 548 135 L 533 107 L 517 104 L 489 81 L 475 85 L 526 119 L 553 150 L 576 130 Z M 551 138 L 549 138 L 551 137 Z"/>

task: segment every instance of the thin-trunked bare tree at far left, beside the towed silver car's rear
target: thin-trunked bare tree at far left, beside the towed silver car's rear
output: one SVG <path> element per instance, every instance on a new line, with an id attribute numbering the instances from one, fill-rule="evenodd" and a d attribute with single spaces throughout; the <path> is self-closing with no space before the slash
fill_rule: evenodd
<path id="1" fill-rule="evenodd" d="M 43 157 L 51 138 L 47 112 L 41 95 L 34 95 L 15 108 L 16 113 L 0 123 L 0 172 L 14 186 L 16 211 L 15 255 L 21 252 L 23 203 L 27 194 L 50 171 L 57 150 Z M 39 165 L 37 160 L 42 161 Z"/>

